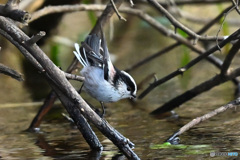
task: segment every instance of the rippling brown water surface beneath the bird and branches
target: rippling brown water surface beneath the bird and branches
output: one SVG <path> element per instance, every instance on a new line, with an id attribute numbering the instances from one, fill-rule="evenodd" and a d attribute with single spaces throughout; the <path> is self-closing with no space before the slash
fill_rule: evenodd
<path id="1" fill-rule="evenodd" d="M 80 132 L 62 116 L 65 110 L 59 106 L 54 108 L 55 115 L 59 116 L 47 115 L 41 125 L 41 133 L 23 132 L 36 110 L 34 107 L 0 108 L 0 153 L 3 159 L 125 159 L 94 127 L 104 150 L 89 150 Z M 106 115 L 109 123 L 135 144 L 134 151 L 141 159 L 202 159 L 209 158 L 211 151 L 239 152 L 239 117 L 239 112 L 227 111 L 194 127 L 180 137 L 181 144 L 207 145 L 208 148 L 183 150 L 152 149 L 151 146 L 162 144 L 170 134 L 190 121 L 192 116 L 189 114 L 177 120 L 156 119 L 144 110 L 131 107 L 128 101 L 122 101 L 107 105 Z"/>

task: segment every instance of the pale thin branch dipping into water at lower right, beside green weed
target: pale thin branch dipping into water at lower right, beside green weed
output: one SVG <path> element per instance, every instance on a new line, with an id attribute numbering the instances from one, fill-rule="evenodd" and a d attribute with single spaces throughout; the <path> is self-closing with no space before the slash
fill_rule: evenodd
<path id="1" fill-rule="evenodd" d="M 201 117 L 197 117 L 197 118 L 193 119 L 192 121 L 190 121 L 189 123 L 185 124 L 183 127 L 181 127 L 177 132 L 175 132 L 173 135 L 171 135 L 166 141 L 172 143 L 175 141 L 175 139 L 179 135 L 183 134 L 184 132 L 188 131 L 189 129 L 198 125 L 199 123 L 204 122 L 204 121 L 206 121 L 228 109 L 236 108 L 239 105 L 240 105 L 240 98 L 237 98 L 236 100 L 231 101 L 228 104 L 215 109 L 214 111 L 211 111 Z"/>

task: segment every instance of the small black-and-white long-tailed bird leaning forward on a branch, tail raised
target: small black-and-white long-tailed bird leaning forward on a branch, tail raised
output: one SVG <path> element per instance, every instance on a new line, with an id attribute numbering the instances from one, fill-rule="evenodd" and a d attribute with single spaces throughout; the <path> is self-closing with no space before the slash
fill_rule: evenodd
<path id="1" fill-rule="evenodd" d="M 85 77 L 81 88 L 101 103 L 102 116 L 104 103 L 136 98 L 136 82 L 130 74 L 112 64 L 102 30 L 100 35 L 89 34 L 81 46 L 74 45 L 73 53 L 83 66 L 80 74 Z"/>

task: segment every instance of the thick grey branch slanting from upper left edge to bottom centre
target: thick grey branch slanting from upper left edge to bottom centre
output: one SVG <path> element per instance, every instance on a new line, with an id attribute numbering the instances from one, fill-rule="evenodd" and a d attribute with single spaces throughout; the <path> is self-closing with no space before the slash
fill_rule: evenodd
<path id="1" fill-rule="evenodd" d="M 9 27 L 11 26 L 11 27 Z M 95 113 L 88 104 L 82 99 L 74 87 L 66 79 L 65 74 L 44 54 L 44 52 L 36 45 L 27 45 L 23 43 L 28 41 L 30 38 L 23 33 L 14 24 L 8 21 L 6 18 L 0 16 L 0 33 L 1 31 L 6 32 L 3 34 L 9 41 L 11 41 L 16 47 L 23 53 L 31 54 L 37 62 L 42 66 L 45 75 L 51 87 L 58 95 L 61 102 L 67 108 L 67 111 L 74 117 L 75 107 L 79 109 L 81 114 L 92 122 L 106 137 L 108 137 L 129 159 L 139 159 L 138 156 L 132 151 L 126 138 L 115 132 L 114 129 L 106 123 L 101 117 Z M 32 62 L 34 63 L 34 62 Z M 62 96 L 63 95 L 63 96 Z M 73 108 L 68 108 L 71 103 L 74 104 Z M 74 118 L 73 118 L 74 119 Z"/>

